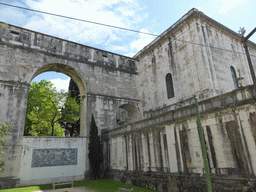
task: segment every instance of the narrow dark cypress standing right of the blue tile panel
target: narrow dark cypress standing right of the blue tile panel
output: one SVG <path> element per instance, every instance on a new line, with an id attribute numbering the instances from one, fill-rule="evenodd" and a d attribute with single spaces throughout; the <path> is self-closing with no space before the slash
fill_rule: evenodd
<path id="1" fill-rule="evenodd" d="M 89 135 L 89 163 L 90 172 L 93 179 L 100 178 L 100 167 L 103 163 L 103 149 L 100 136 L 98 135 L 98 127 L 92 114 L 90 135 Z"/>

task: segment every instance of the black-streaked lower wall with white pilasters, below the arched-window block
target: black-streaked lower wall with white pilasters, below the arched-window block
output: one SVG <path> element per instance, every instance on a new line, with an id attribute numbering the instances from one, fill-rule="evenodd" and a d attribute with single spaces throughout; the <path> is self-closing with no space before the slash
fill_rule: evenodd
<path id="1" fill-rule="evenodd" d="M 223 191 L 236 188 L 246 191 L 246 186 L 250 188 L 249 184 L 242 185 L 240 182 L 255 181 L 256 135 L 253 130 L 256 106 L 252 90 L 252 87 L 239 88 L 199 102 L 207 157 L 216 191 L 226 185 L 227 189 Z M 110 175 L 113 178 L 125 182 L 132 180 L 133 184 L 140 186 L 146 186 L 146 182 L 156 183 L 158 187 L 149 187 L 160 191 L 172 191 L 175 186 L 179 190 L 183 186 L 181 191 L 189 186 L 194 191 L 205 191 L 194 104 L 111 130 L 109 136 Z M 152 178 L 147 173 L 152 173 Z M 185 184 L 175 184 L 175 181 L 183 182 L 183 174 L 187 178 Z M 193 175 L 197 175 L 196 178 Z M 227 182 L 219 183 L 219 177 L 225 177 Z M 194 185 L 195 182 L 201 186 Z M 233 186 L 228 187 L 228 183 Z M 167 188 L 162 189 L 159 185 L 166 185 Z"/>

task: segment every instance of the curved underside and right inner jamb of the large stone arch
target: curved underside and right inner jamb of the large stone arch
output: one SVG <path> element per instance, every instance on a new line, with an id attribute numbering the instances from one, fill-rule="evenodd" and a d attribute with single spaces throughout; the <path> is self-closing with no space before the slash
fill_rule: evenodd
<path id="1" fill-rule="evenodd" d="M 77 70 L 73 67 L 70 67 L 65 64 L 61 63 L 50 63 L 42 66 L 39 68 L 31 77 L 30 82 L 36 77 L 37 75 L 48 72 L 48 71 L 55 71 L 60 72 L 63 74 L 68 75 L 71 77 L 75 83 L 77 84 L 79 91 L 80 91 L 80 101 L 81 101 L 81 108 L 80 108 L 80 136 L 86 136 L 88 131 L 86 130 L 86 83 L 83 77 L 79 74 Z"/>

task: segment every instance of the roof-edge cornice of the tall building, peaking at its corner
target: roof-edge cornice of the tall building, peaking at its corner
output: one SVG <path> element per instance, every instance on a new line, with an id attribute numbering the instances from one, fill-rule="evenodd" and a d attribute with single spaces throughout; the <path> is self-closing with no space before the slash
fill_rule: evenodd
<path id="1" fill-rule="evenodd" d="M 166 38 L 166 36 L 168 36 L 172 32 L 174 32 L 178 27 L 183 25 L 184 22 L 186 22 L 186 21 L 188 21 L 188 20 L 190 20 L 192 18 L 195 18 L 195 17 L 203 18 L 203 19 L 209 21 L 210 23 L 212 23 L 213 25 L 215 25 L 215 26 L 221 28 L 222 30 L 226 31 L 227 33 L 235 36 L 237 39 L 241 39 L 241 35 L 240 34 L 238 34 L 235 31 L 229 29 L 228 27 L 222 25 L 221 23 L 215 21 L 214 19 L 208 17 L 207 15 L 205 15 L 203 12 L 197 10 L 196 8 L 192 8 L 188 13 L 186 13 L 178 21 L 176 21 L 171 27 L 169 27 L 161 35 L 159 35 L 157 38 L 155 38 L 151 43 L 146 45 L 137 54 L 135 54 L 133 56 L 133 59 L 138 60 L 138 57 L 141 54 L 143 54 L 144 52 L 152 50 L 156 46 L 156 44 L 159 43 L 159 41 L 162 41 L 164 38 Z M 247 42 L 248 42 L 248 45 L 256 48 L 256 44 L 255 43 L 253 43 L 252 41 L 249 41 L 249 40 Z"/>

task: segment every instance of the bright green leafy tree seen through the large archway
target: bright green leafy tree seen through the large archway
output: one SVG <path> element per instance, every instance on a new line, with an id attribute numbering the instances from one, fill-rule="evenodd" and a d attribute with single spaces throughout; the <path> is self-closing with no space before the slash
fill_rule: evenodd
<path id="1" fill-rule="evenodd" d="M 70 94 L 58 92 L 50 81 L 32 82 L 24 135 L 64 136 L 60 123 L 76 122 L 79 119 L 79 108 Z"/>

